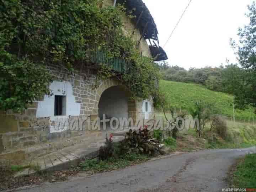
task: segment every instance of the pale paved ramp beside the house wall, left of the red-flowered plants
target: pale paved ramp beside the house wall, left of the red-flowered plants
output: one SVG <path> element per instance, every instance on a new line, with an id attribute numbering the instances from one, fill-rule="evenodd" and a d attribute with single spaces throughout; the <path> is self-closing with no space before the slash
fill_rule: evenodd
<path id="1" fill-rule="evenodd" d="M 114 134 L 119 135 L 112 138 L 114 142 L 118 142 L 123 139 L 123 136 L 120 136 L 122 133 Z M 104 145 L 106 141 L 105 135 L 106 132 L 104 133 L 104 136 L 100 134 L 100 136 L 92 138 L 83 135 L 81 137 L 63 139 L 70 140 L 69 145 L 71 146 L 66 146 L 62 149 L 56 149 L 56 147 L 53 147 L 52 150 L 44 150 L 44 146 L 49 145 L 51 147 L 54 143 L 44 144 L 44 146 L 38 148 L 38 151 L 41 152 L 30 155 L 30 160 L 25 162 L 24 165 L 37 165 L 42 171 L 57 171 L 70 167 L 71 165 L 77 166 L 81 160 L 92 159 L 98 156 L 98 149 L 100 146 Z M 75 139 L 79 140 L 79 144 L 72 143 Z M 55 143 L 57 143 L 57 141 Z M 35 147 L 31 148 L 34 149 Z M 34 172 L 35 171 L 33 169 L 27 168 L 23 171 L 17 172 L 16 176 L 29 175 Z"/>

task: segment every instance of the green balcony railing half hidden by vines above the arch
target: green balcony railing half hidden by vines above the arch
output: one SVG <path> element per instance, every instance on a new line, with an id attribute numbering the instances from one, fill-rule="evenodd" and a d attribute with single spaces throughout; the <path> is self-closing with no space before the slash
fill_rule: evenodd
<path id="1" fill-rule="evenodd" d="M 91 58 L 91 61 L 94 63 L 107 64 L 111 69 L 119 73 L 125 73 L 126 69 L 129 67 L 129 62 L 123 58 L 114 57 L 108 59 L 107 53 L 103 50 L 97 50 L 94 57 Z"/>

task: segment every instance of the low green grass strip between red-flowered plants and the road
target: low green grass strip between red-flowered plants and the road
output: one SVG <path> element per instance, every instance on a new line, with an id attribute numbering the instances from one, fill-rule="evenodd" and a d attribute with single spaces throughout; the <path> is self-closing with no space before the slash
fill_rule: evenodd
<path id="1" fill-rule="evenodd" d="M 80 164 L 80 167 L 84 171 L 98 173 L 123 169 L 134 164 L 148 161 L 149 159 L 150 157 L 148 155 L 130 153 L 123 155 L 118 159 L 110 158 L 106 161 L 99 161 L 97 159 L 86 160 Z"/>

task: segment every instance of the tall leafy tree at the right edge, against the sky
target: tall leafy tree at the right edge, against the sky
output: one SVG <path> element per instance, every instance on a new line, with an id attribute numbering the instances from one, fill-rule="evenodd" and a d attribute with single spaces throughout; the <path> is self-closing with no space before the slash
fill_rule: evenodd
<path id="1" fill-rule="evenodd" d="M 239 64 L 243 68 L 243 75 L 240 79 L 240 87 L 235 92 L 236 103 L 240 108 L 246 105 L 256 107 L 256 3 L 248 6 L 249 13 L 246 16 L 250 19 L 249 25 L 239 28 L 239 43 L 231 39 L 231 46 L 236 50 Z"/>

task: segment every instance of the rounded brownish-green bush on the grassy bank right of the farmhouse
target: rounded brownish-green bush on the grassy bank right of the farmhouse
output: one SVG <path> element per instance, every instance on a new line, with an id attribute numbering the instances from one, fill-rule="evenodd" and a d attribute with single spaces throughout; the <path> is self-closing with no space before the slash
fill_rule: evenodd
<path id="1" fill-rule="evenodd" d="M 211 120 L 211 130 L 215 130 L 220 137 L 226 139 L 228 136 L 228 127 L 225 120 L 220 116 L 214 116 Z"/>

